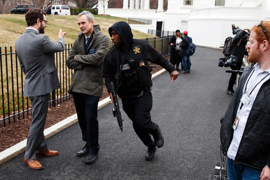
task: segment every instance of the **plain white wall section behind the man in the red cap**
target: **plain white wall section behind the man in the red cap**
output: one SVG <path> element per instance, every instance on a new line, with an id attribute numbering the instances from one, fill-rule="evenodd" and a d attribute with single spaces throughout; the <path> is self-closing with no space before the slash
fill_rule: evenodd
<path id="1" fill-rule="evenodd" d="M 232 34 L 231 25 L 251 29 L 260 19 L 261 8 L 206 8 L 190 11 L 188 32 L 194 44 L 220 47 Z"/>

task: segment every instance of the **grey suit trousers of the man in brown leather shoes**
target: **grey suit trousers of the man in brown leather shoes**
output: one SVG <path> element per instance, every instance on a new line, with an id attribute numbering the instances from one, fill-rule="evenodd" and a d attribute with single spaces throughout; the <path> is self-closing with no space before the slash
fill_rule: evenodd
<path id="1" fill-rule="evenodd" d="M 32 105 L 32 122 L 24 155 L 28 160 L 36 159 L 37 152 L 48 148 L 43 131 L 48 112 L 49 97 L 50 93 L 29 97 Z"/>

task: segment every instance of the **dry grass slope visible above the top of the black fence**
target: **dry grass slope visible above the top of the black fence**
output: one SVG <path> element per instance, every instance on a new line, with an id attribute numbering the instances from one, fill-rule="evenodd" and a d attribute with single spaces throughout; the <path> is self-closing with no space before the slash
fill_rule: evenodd
<path id="1" fill-rule="evenodd" d="M 117 21 L 128 21 L 125 18 L 117 18 L 112 16 L 95 15 L 95 25 L 99 24 L 101 31 L 109 38 L 108 29 Z M 77 22 L 77 16 L 56 16 L 47 15 L 48 21 L 44 35 L 48 35 L 52 41 L 57 41 L 60 28 L 63 32 L 67 32 L 64 40 L 66 44 L 73 44 L 74 40 L 80 32 Z M 16 39 L 25 31 L 27 24 L 24 14 L 0 14 L 0 47 L 14 47 Z M 150 34 L 142 33 L 132 29 L 133 37 L 136 39 L 154 37 Z"/>

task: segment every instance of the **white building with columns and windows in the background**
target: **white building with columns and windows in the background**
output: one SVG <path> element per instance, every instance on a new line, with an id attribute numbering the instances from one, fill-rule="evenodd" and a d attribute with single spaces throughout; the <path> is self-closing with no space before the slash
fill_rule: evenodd
<path id="1" fill-rule="evenodd" d="M 122 18 L 152 20 L 151 25 L 130 24 L 131 28 L 148 33 L 157 29 L 181 32 L 187 30 L 193 43 L 208 47 L 220 47 L 228 36 L 233 36 L 231 25 L 251 29 L 259 20 L 270 20 L 270 0 L 168 0 L 163 10 L 163 0 L 158 9 L 149 9 L 149 0 L 123 0 L 122 9 L 105 8 L 99 0 L 98 13 Z"/>

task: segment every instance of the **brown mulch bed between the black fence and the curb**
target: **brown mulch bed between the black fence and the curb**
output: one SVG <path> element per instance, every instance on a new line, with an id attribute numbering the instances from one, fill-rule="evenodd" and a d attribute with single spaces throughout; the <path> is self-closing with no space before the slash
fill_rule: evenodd
<path id="1" fill-rule="evenodd" d="M 152 74 L 158 72 L 163 69 L 161 66 L 157 64 L 151 64 L 153 67 Z M 107 92 L 106 86 L 103 89 L 103 96 L 100 100 L 108 97 L 109 94 Z M 66 119 L 67 117 L 72 116 L 76 113 L 73 99 L 62 102 L 56 107 L 51 107 L 48 109 L 48 114 L 46 118 L 45 128 L 55 125 L 56 123 Z M 6 126 L 3 125 L 3 122 L 0 121 L 0 152 L 5 149 L 12 147 L 13 145 L 25 140 L 28 137 L 29 127 L 32 121 L 31 113 L 29 112 L 29 117 L 25 117 L 24 119 L 18 120 L 15 122 L 8 124 L 6 121 Z"/>

